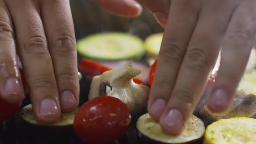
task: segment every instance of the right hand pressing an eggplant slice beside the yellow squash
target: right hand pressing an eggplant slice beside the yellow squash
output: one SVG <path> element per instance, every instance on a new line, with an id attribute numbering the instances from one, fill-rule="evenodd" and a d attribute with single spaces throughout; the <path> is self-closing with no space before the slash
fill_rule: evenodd
<path id="1" fill-rule="evenodd" d="M 124 5 L 132 0 L 119 1 Z M 222 57 L 207 107 L 226 111 L 256 34 L 255 0 L 138 0 L 165 27 L 148 111 L 164 131 L 180 134 Z M 112 11 L 118 14 L 118 11 Z"/>

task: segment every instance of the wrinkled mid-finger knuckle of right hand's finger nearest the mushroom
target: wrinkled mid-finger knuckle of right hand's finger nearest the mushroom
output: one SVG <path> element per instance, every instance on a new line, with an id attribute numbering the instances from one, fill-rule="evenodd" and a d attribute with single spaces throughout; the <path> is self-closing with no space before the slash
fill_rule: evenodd
<path id="1" fill-rule="evenodd" d="M 162 57 L 166 62 L 181 61 L 184 56 L 184 53 L 181 50 L 181 46 L 171 41 L 166 43 L 161 51 Z"/>

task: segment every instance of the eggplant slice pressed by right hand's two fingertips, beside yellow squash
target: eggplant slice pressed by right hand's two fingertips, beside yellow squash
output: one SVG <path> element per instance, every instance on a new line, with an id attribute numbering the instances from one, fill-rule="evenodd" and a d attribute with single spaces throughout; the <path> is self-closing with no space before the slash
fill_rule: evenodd
<path id="1" fill-rule="evenodd" d="M 177 136 L 166 134 L 148 113 L 137 121 L 138 141 L 144 144 L 200 144 L 205 127 L 203 121 L 192 115 L 184 131 Z"/>

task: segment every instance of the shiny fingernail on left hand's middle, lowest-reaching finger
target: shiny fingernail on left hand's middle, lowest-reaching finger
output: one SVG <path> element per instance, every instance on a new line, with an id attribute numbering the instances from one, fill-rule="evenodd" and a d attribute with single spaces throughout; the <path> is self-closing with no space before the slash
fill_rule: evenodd
<path id="1" fill-rule="evenodd" d="M 50 118 L 59 112 L 56 102 L 52 98 L 46 98 L 41 101 L 39 114 L 43 117 Z"/>

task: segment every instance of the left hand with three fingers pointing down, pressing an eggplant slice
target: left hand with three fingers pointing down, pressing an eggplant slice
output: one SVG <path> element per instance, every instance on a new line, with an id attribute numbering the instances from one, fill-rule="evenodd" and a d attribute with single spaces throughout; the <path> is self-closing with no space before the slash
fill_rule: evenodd
<path id="1" fill-rule="evenodd" d="M 24 98 L 16 52 L 35 117 L 51 123 L 79 103 L 75 34 L 69 0 L 0 0 L 0 98 Z"/>

